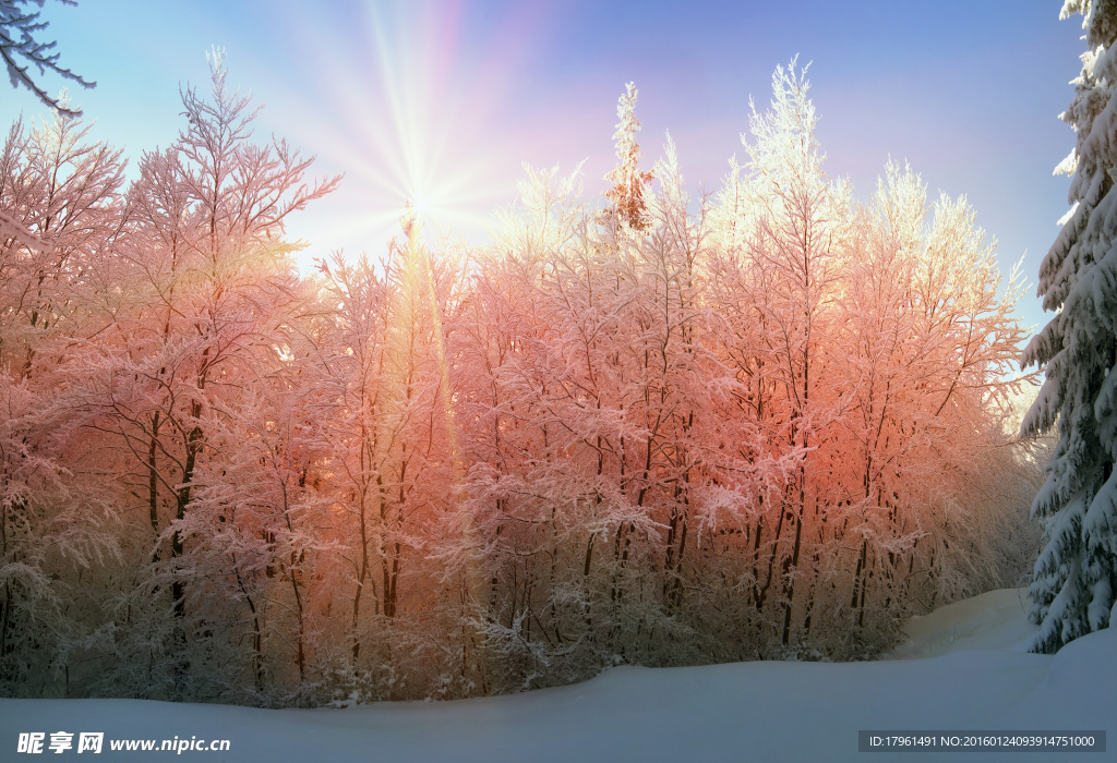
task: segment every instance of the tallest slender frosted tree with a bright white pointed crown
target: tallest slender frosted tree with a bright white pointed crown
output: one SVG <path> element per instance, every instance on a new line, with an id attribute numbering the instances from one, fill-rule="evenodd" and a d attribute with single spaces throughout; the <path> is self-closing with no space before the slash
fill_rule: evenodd
<path id="1" fill-rule="evenodd" d="M 814 129 L 814 106 L 808 98 L 806 68 L 795 59 L 772 77 L 772 108 L 751 119 L 754 142 L 746 143 L 748 170 L 757 201 L 755 230 L 746 251 L 760 273 L 757 315 L 763 344 L 774 349 L 768 374 L 782 415 L 773 438 L 801 455 L 818 447 L 822 429 L 834 417 L 822 388 L 833 341 L 836 294 L 843 280 L 842 254 L 848 238 L 848 189 L 832 184 L 822 168 L 824 154 Z M 744 136 L 742 137 L 744 141 Z M 819 515 L 818 487 L 812 494 L 808 462 L 799 460 L 795 476 L 780 496 L 775 545 L 785 602 L 783 644 L 792 638 L 795 572 L 800 566 L 809 509 Z M 824 520 L 824 516 L 822 518 Z M 783 533 L 783 534 L 782 534 Z M 768 582 L 772 576 L 767 577 Z"/>

